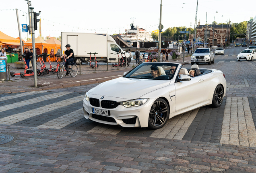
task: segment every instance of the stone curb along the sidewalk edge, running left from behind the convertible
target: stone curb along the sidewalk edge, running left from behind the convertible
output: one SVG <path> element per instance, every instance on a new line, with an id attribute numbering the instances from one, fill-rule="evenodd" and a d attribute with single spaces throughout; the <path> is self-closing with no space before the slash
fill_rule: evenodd
<path id="1" fill-rule="evenodd" d="M 180 63 L 182 65 L 190 64 L 190 62 L 182 62 Z M 6 94 L 6 93 L 21 93 L 21 92 L 31 92 L 31 91 L 43 91 L 43 90 L 50 90 L 50 89 L 61 89 L 61 88 L 68 88 L 68 87 L 78 87 L 88 84 L 96 84 L 101 82 L 106 82 L 108 80 L 112 80 L 118 78 L 117 77 L 109 77 L 109 78 L 103 78 L 103 79 L 92 79 L 92 80 L 86 80 L 81 82 L 70 82 L 70 83 L 61 83 L 61 84 L 53 84 L 48 85 L 44 87 L 38 87 L 38 88 L 31 88 L 31 89 L 17 89 L 17 90 L 0 90 L 0 94 Z"/>

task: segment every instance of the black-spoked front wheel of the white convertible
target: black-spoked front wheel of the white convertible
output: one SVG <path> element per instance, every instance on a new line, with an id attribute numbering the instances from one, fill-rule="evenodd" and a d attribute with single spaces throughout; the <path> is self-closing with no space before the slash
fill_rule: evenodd
<path id="1" fill-rule="evenodd" d="M 169 107 L 165 100 L 155 100 L 149 111 L 149 128 L 162 128 L 169 119 L 169 112 Z"/>

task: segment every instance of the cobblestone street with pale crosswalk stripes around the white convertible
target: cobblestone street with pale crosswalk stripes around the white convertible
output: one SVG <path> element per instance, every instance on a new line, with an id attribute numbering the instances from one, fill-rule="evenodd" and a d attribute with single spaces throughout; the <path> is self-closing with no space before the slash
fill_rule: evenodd
<path id="1" fill-rule="evenodd" d="M 178 115 L 157 130 L 85 119 L 85 92 L 97 84 L 1 94 L 0 133 L 14 142 L 0 145 L 0 173 L 256 172 L 256 62 L 238 62 L 241 50 L 199 64 L 224 72 L 221 107 Z"/>

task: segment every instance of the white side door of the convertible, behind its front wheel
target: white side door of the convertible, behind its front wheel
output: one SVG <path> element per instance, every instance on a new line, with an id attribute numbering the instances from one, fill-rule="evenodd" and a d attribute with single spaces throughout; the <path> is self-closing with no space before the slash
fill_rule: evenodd
<path id="1" fill-rule="evenodd" d="M 201 76 L 175 82 L 175 110 L 180 111 L 202 102 L 204 92 L 205 83 Z"/>

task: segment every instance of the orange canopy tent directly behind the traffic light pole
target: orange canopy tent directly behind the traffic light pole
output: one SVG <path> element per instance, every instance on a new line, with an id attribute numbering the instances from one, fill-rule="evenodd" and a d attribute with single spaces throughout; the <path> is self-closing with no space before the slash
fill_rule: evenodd
<path id="1" fill-rule="evenodd" d="M 28 40 L 26 43 L 26 47 L 32 48 L 32 39 Z M 47 53 L 50 54 L 51 50 L 55 49 L 55 44 L 50 44 L 45 42 L 40 36 L 38 36 L 37 38 L 35 38 L 35 49 L 36 49 L 36 53 L 42 54 L 42 53 Z M 50 60 L 54 60 L 54 58 L 50 58 Z M 48 61 L 48 59 L 47 59 Z"/>

